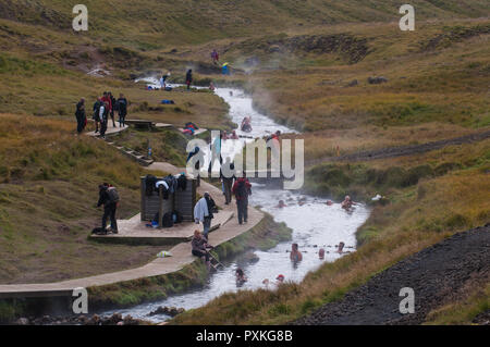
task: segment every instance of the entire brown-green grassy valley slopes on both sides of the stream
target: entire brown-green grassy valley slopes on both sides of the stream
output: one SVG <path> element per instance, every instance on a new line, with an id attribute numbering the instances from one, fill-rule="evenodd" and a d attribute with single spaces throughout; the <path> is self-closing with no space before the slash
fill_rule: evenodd
<path id="1" fill-rule="evenodd" d="M 0 282 L 48 282 L 133 268 L 151 247 L 96 245 L 97 184 L 120 187 L 120 216 L 138 210 L 140 169 L 114 149 L 74 136 L 74 106 L 123 92 L 130 116 L 229 128 L 210 92 L 144 90 L 139 75 L 188 67 L 196 82 L 236 83 L 256 107 L 306 134 L 307 159 L 421 144 L 490 125 L 490 3 L 414 0 L 416 30 L 401 32 L 403 1 L 124 0 L 84 2 L 89 30 L 71 28 L 74 1 L 0 3 Z M 212 48 L 237 69 L 223 77 Z M 106 77 L 86 73 L 101 67 Z M 383 84 L 368 78 L 384 76 Z M 160 100 L 172 98 L 174 106 Z M 35 116 L 34 116 L 35 115 Z M 120 145 L 182 163 L 185 138 L 131 131 Z M 217 298 L 175 323 L 284 323 L 341 298 L 373 273 L 489 221 L 489 141 L 422 156 L 309 168 L 306 188 L 339 198 L 388 197 L 357 233 L 355 253 L 277 292 Z M 488 303 L 469 288 L 429 322 L 469 322 Z M 488 297 L 488 295 L 487 295 Z M 475 298 L 475 302 L 470 299 Z M 487 306 L 486 306 L 487 305 Z M 460 312 L 463 312 L 461 314 Z"/>

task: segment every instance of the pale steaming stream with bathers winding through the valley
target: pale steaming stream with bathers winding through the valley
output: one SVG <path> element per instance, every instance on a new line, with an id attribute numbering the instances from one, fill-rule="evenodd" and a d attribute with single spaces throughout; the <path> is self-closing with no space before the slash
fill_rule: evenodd
<path id="1" fill-rule="evenodd" d="M 144 80 L 149 85 L 159 86 L 154 78 Z M 216 94 L 229 103 L 230 116 L 233 122 L 241 124 L 245 115 L 252 115 L 253 132 L 243 134 L 241 131 L 236 131 L 238 135 L 261 137 L 278 129 L 281 133 L 295 132 L 255 111 L 252 106 L 252 98 L 246 96 L 243 90 L 217 88 Z M 225 152 L 223 159 L 228 153 L 241 149 L 241 147 L 233 147 L 230 148 L 225 142 L 222 145 L 222 151 Z M 105 311 L 101 314 L 110 315 L 120 312 L 137 319 L 161 322 L 169 317 L 164 314 L 149 315 L 149 312 L 155 311 L 160 306 L 186 310 L 198 308 L 225 292 L 264 288 L 262 281 L 265 278 L 269 278 L 269 288 L 273 288 L 274 280 L 279 274 L 283 274 L 285 281 L 301 282 L 309 271 L 316 270 L 323 262 L 331 262 L 342 257 L 342 255 L 335 252 L 334 248 L 334 245 L 340 241 L 345 243 L 345 251 L 354 251 L 356 245 L 355 232 L 369 215 L 369 210 L 364 205 L 357 205 L 353 212 L 347 213 L 341 208 L 340 203 L 327 206 L 324 203 L 327 199 L 302 195 L 295 190 L 271 189 L 260 184 L 253 184 L 252 189 L 253 195 L 249 203 L 260 206 L 264 211 L 272 214 L 277 222 L 285 222 L 293 230 L 291 241 L 281 243 L 267 251 L 256 250 L 253 252 L 253 257 L 248 255 L 248 257 L 237 257 L 232 261 L 224 262 L 224 269 L 213 273 L 205 287 L 199 289 L 128 309 Z M 305 202 L 304 205 L 298 203 L 301 199 Z M 286 207 L 277 208 L 279 200 L 284 200 Z M 297 243 L 299 250 L 303 252 L 303 261 L 297 264 L 290 261 L 290 253 L 286 252 L 291 249 L 292 243 Z M 318 257 L 320 247 L 326 249 L 324 260 L 320 260 Z M 248 278 L 242 286 L 237 286 L 235 282 L 235 270 L 238 267 L 244 270 Z"/>

